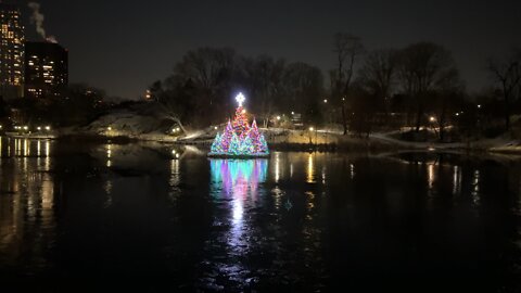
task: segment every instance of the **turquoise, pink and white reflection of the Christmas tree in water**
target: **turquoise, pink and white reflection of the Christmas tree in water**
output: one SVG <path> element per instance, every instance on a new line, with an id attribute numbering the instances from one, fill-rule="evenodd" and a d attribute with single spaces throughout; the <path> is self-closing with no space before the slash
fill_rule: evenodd
<path id="1" fill-rule="evenodd" d="M 268 171 L 267 160 L 212 160 L 211 163 L 211 194 L 220 208 L 216 216 L 215 235 L 208 243 L 207 250 L 214 246 L 226 246 L 226 255 L 215 253 L 206 264 L 216 276 L 223 276 L 228 282 L 243 283 L 250 270 L 241 259 L 255 245 L 256 232 L 252 218 L 245 216 L 247 211 L 256 208 L 260 183 L 266 182 Z M 224 230 L 223 230 L 224 229 Z M 208 269 L 208 268 L 206 268 Z M 205 269 L 205 270 L 206 270 Z M 204 288 L 217 285 L 217 280 L 205 279 Z"/>

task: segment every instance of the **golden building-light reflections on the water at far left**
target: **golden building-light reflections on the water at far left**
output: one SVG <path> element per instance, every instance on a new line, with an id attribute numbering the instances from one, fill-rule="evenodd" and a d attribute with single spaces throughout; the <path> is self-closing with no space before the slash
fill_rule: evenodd
<path id="1" fill-rule="evenodd" d="M 56 192 L 50 145 L 49 140 L 0 138 L 0 267 L 48 265 L 41 252 L 52 247 Z"/>

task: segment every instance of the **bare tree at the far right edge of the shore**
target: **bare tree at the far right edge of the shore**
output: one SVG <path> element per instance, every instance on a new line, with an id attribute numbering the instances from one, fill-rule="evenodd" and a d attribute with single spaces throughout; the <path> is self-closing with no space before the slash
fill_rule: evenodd
<path id="1" fill-rule="evenodd" d="M 510 130 L 510 105 L 521 92 L 521 49 L 513 50 L 504 61 L 488 60 L 488 72 L 499 84 L 505 105 L 505 130 Z"/>

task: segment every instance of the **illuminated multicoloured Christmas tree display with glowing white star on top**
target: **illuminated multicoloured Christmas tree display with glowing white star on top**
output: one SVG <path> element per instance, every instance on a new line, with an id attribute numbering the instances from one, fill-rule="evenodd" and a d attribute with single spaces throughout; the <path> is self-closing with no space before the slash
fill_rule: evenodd
<path id="1" fill-rule="evenodd" d="M 268 144 L 258 131 L 255 119 L 247 124 L 246 111 L 242 106 L 245 98 L 240 93 L 237 98 L 239 106 L 232 122 L 228 122 L 225 131 L 217 133 L 212 143 L 209 156 L 267 156 Z"/>

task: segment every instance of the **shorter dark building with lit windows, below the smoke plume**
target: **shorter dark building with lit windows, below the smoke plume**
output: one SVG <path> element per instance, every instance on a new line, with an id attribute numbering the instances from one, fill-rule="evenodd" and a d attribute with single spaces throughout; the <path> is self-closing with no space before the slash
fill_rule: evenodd
<path id="1" fill-rule="evenodd" d="M 67 85 L 68 51 L 55 42 L 26 42 L 26 97 L 60 97 Z"/>

